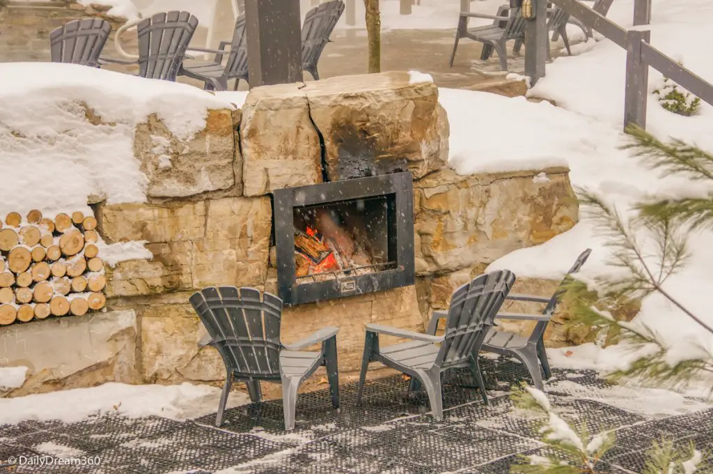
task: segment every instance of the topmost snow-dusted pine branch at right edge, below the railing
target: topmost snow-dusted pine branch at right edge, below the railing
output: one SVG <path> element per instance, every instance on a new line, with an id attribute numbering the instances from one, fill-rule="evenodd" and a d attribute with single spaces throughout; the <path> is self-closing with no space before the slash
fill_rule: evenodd
<path id="1" fill-rule="evenodd" d="M 713 155 L 697 146 L 677 139 L 669 144 L 663 143 L 635 125 L 627 126 L 626 133 L 631 136 L 632 142 L 622 146 L 622 149 L 632 150 L 635 156 L 652 168 L 662 169 L 663 176 L 684 173 L 695 180 L 713 179 Z"/>

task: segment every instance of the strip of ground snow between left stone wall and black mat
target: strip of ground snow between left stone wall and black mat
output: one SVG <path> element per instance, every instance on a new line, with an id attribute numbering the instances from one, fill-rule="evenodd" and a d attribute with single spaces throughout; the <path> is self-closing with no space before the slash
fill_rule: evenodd
<path id="1" fill-rule="evenodd" d="M 163 416 L 174 420 L 215 413 L 220 389 L 209 385 L 128 385 L 105 383 L 93 388 L 0 398 L 0 425 L 24 420 L 61 420 L 75 423 L 98 413 L 130 418 Z M 250 398 L 231 393 L 228 406 L 244 405 Z"/>

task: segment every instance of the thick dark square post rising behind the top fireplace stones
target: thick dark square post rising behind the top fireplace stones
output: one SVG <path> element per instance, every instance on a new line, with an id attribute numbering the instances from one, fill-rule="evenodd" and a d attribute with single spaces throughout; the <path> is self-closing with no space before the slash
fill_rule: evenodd
<path id="1" fill-rule="evenodd" d="M 302 81 L 299 0 L 245 0 L 250 87 Z"/>

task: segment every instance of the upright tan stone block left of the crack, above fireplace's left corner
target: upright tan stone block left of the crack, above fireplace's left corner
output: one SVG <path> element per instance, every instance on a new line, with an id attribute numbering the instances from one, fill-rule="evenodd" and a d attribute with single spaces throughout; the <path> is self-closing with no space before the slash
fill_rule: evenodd
<path id="1" fill-rule="evenodd" d="M 322 182 L 322 147 L 303 86 L 262 86 L 247 95 L 240 120 L 245 196 Z"/>

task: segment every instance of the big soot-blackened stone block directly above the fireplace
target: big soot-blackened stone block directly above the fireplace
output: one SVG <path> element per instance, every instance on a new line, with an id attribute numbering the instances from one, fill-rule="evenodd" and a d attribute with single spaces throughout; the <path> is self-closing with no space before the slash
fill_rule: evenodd
<path id="1" fill-rule="evenodd" d="M 338 76 L 304 87 L 329 181 L 392 171 L 420 178 L 448 161 L 448 119 L 430 82 L 409 74 Z"/>

